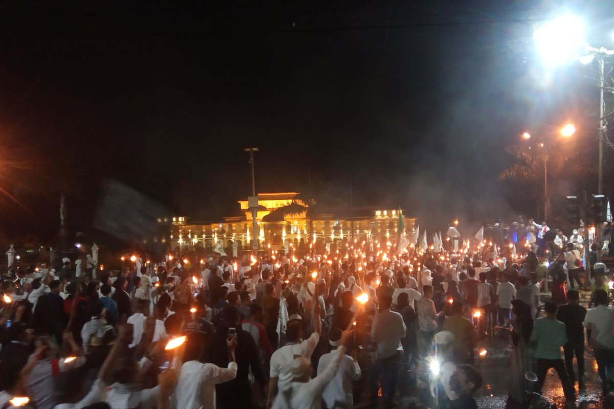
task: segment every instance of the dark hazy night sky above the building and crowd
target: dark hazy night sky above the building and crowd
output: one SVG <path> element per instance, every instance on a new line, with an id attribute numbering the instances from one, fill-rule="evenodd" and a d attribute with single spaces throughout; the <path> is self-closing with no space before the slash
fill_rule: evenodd
<path id="1" fill-rule="evenodd" d="M 325 202 L 348 202 L 352 183 L 356 204 L 431 223 L 530 211 L 523 189 L 497 180 L 503 147 L 570 118 L 596 145 L 591 72 L 549 83 L 531 54 L 532 26 L 554 10 L 4 2 L 0 188 L 23 205 L 0 199 L 5 234 L 56 232 L 62 186 L 72 229 L 87 230 L 104 178 L 197 220 L 235 214 L 251 190 L 247 146 L 261 150 L 262 192 L 306 191 L 311 174 Z"/>

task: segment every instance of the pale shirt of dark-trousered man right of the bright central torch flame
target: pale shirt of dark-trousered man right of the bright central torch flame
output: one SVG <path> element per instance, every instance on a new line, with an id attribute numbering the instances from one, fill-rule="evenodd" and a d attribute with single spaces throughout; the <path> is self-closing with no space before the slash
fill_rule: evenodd
<path id="1" fill-rule="evenodd" d="M 403 317 L 394 311 L 375 311 L 371 324 L 371 340 L 378 344 L 378 358 L 387 358 L 397 351 L 403 351 L 401 338 L 405 338 Z"/>

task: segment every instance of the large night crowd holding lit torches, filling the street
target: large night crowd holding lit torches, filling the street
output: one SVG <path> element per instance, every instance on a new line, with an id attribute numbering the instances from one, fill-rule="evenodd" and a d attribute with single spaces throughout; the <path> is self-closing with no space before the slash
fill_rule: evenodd
<path id="1" fill-rule="evenodd" d="M 583 386 L 585 327 L 607 390 L 608 270 L 591 262 L 584 274 L 581 248 L 605 253 L 608 243 L 583 226 L 569 237 L 528 226 L 497 223 L 466 244 L 451 226 L 437 248 L 135 254 L 119 272 L 97 270 L 89 254 L 53 268 L 15 264 L 2 282 L 0 405 L 391 407 L 402 380 L 416 407 L 470 409 L 487 353 L 476 345 L 493 334 L 513 344 L 510 399 L 529 398 L 527 372 L 538 391 L 554 368 L 571 401 L 573 382 Z M 552 281 L 545 305 L 540 275 Z M 575 284 L 595 308 L 579 305 Z"/>

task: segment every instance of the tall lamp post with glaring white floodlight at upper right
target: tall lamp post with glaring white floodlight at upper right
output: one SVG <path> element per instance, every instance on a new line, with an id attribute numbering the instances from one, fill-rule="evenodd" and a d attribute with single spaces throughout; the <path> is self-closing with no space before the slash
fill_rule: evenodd
<path id="1" fill-rule="evenodd" d="M 604 177 L 604 137 L 606 132 L 604 117 L 604 66 L 605 57 L 614 55 L 614 50 L 607 50 L 604 47 L 594 48 L 588 45 L 585 40 L 583 21 L 571 14 L 562 15 L 537 28 L 533 34 L 533 39 L 538 53 L 543 57 L 544 64 L 549 67 L 561 66 L 573 61 L 590 64 L 597 58 L 599 69 L 599 129 L 597 129 L 599 178 L 597 192 L 601 194 Z"/>

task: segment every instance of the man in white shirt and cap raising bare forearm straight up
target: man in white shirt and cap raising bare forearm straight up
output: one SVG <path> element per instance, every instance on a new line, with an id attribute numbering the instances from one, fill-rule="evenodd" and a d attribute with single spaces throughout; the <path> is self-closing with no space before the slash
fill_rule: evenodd
<path id="1" fill-rule="evenodd" d="M 320 304 L 314 305 L 314 316 L 320 315 Z M 273 404 L 273 394 L 275 389 L 279 389 L 279 393 L 290 386 L 292 382 L 292 372 L 290 372 L 290 365 L 297 356 L 310 358 L 313 351 L 316 349 L 317 342 L 320 340 L 320 334 L 322 333 L 322 321 L 321 319 L 314 319 L 314 333 L 311 337 L 305 341 L 302 340 L 301 320 L 296 319 L 300 316 L 290 316 L 286 324 L 286 345 L 279 348 L 271 356 L 271 371 L 268 387 L 268 407 Z"/>

